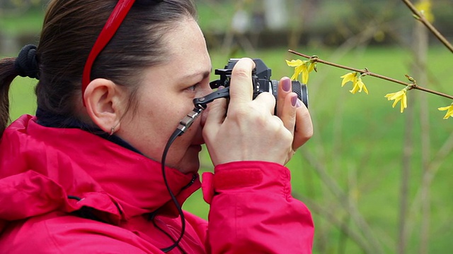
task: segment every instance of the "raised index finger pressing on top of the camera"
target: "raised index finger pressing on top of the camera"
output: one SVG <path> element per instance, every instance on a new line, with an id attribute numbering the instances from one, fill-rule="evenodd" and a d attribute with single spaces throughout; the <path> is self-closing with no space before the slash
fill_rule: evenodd
<path id="1" fill-rule="evenodd" d="M 252 70 L 255 68 L 255 63 L 252 59 L 240 59 L 231 72 L 230 81 L 230 107 L 235 105 L 250 102 L 253 97 L 252 86 Z"/>

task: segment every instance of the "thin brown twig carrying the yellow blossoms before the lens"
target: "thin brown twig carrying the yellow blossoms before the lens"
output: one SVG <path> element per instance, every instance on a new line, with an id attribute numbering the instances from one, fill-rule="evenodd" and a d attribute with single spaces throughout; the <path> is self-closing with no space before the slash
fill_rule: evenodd
<path id="1" fill-rule="evenodd" d="M 292 54 L 296 54 L 297 56 L 305 57 L 306 59 L 311 59 L 312 61 L 316 61 L 318 63 L 323 63 L 323 64 L 326 64 L 326 65 L 329 65 L 329 66 L 334 66 L 334 67 L 337 67 L 337 68 L 343 68 L 345 70 L 355 71 L 357 73 L 362 73 L 362 74 L 365 73 L 366 75 L 370 75 L 370 76 L 372 76 L 374 78 L 380 78 L 380 79 L 387 80 L 387 81 L 390 81 L 390 82 L 393 82 L 393 83 L 397 83 L 397 84 L 400 84 L 400 85 L 405 85 L 405 86 L 411 85 L 411 87 L 412 87 L 411 89 L 421 90 L 423 92 L 432 93 L 433 95 L 439 95 L 439 96 L 442 96 L 442 97 L 446 97 L 448 99 L 453 99 L 452 95 L 447 95 L 447 94 L 442 93 L 442 92 L 437 92 L 435 90 L 430 90 L 430 89 L 425 88 L 425 87 L 420 87 L 419 85 L 415 85 L 413 83 L 406 83 L 406 82 L 403 82 L 401 80 L 396 80 L 394 78 L 389 78 L 389 77 L 384 76 L 384 75 L 379 75 L 377 73 L 372 73 L 372 72 L 368 71 L 367 69 L 360 70 L 358 68 L 352 68 L 352 67 L 349 67 L 349 66 L 343 66 L 343 65 L 338 64 L 338 63 L 332 63 L 332 62 L 329 62 L 329 61 L 326 61 L 326 60 L 322 60 L 322 59 L 319 59 L 319 58 L 314 58 L 313 56 L 308 56 L 306 54 L 295 52 L 292 49 L 289 49 L 288 52 L 292 53 Z"/>

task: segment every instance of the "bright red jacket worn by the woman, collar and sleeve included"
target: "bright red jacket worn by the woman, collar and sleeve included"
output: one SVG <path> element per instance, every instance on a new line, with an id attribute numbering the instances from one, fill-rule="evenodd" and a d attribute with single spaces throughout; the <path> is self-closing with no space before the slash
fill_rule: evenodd
<path id="1" fill-rule="evenodd" d="M 185 212 L 171 253 L 311 253 L 311 214 L 290 195 L 288 169 L 233 162 L 214 171 L 203 175 L 209 223 Z M 180 203 L 201 185 L 176 169 L 166 176 Z M 162 253 L 180 229 L 158 162 L 28 115 L 4 132 L 0 253 Z"/>

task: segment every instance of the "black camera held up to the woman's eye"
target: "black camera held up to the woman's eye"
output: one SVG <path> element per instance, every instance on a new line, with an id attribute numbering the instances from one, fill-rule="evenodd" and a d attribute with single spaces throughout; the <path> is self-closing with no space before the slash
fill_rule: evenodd
<path id="1" fill-rule="evenodd" d="M 239 59 L 229 59 L 225 68 L 215 70 L 214 73 L 219 75 L 220 79 L 214 80 L 210 83 L 212 89 L 218 88 L 221 85 L 229 87 L 231 72 L 238 61 Z M 270 79 L 272 70 L 268 68 L 268 66 L 266 66 L 261 59 L 253 59 L 253 61 L 256 65 L 252 71 L 253 99 L 255 99 L 261 92 L 270 92 L 274 95 L 275 99 L 277 99 L 278 81 Z M 292 92 L 297 94 L 297 97 L 307 108 L 309 107 L 309 95 L 305 84 L 302 84 L 297 80 L 293 80 Z"/>

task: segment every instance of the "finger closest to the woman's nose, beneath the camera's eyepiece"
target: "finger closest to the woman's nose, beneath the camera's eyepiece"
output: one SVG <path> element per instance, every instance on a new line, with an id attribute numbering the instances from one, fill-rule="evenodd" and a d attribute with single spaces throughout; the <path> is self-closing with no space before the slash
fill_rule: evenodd
<path id="1" fill-rule="evenodd" d="M 216 135 L 217 130 L 220 128 L 224 122 L 226 115 L 226 99 L 215 99 L 214 102 L 211 102 L 207 111 L 203 114 L 207 114 L 205 125 L 203 126 L 203 137 L 207 138 L 210 135 Z"/>

